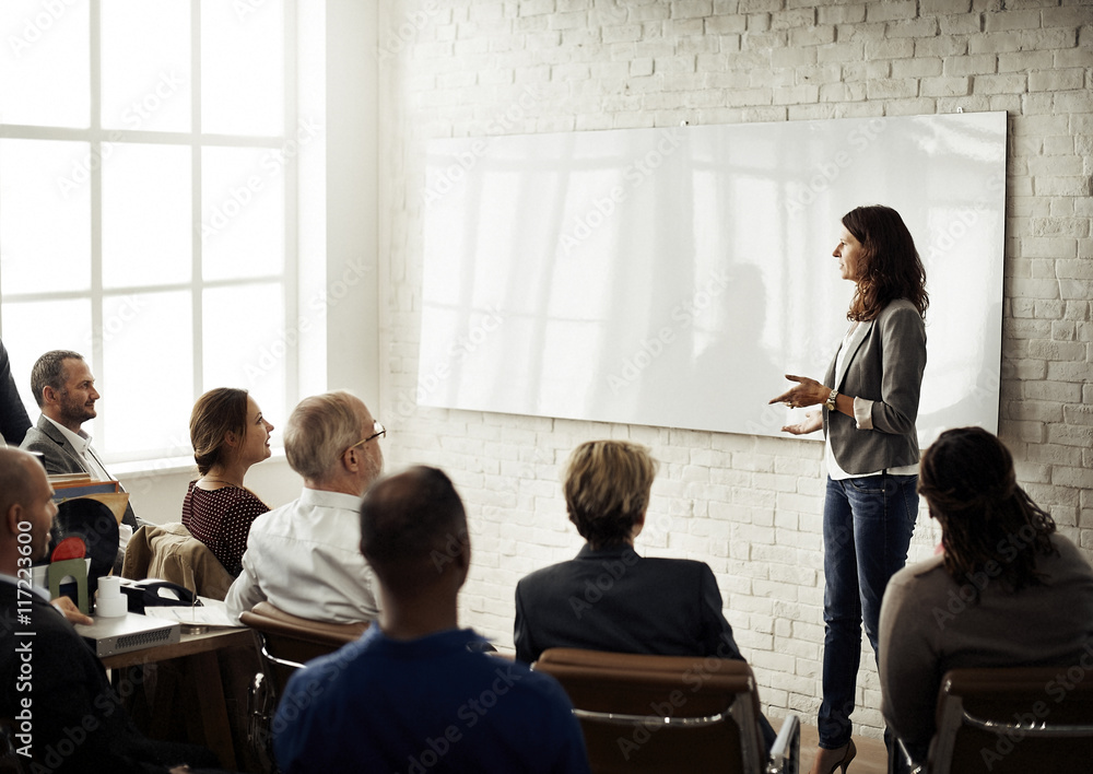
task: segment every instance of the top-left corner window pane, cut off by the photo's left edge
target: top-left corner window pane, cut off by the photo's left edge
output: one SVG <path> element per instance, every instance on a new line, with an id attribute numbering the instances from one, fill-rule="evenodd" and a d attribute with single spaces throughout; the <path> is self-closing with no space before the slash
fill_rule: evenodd
<path id="1" fill-rule="evenodd" d="M 0 2 L 0 121 L 86 127 L 87 0 Z"/>

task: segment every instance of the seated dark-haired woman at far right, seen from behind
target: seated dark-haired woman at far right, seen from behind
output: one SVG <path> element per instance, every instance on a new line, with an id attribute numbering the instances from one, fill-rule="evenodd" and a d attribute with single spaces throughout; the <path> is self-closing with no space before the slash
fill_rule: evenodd
<path id="1" fill-rule="evenodd" d="M 880 662 L 884 717 L 916 761 L 950 669 L 1093 656 L 1093 568 L 1018 485 L 998 438 L 945 431 L 922 456 L 918 491 L 941 525 L 942 553 L 889 584 Z"/>

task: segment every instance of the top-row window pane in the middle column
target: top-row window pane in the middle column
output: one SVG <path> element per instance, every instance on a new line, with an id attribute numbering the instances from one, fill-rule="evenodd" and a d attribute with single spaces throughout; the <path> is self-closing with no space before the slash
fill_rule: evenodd
<path id="1" fill-rule="evenodd" d="M 103 0 L 103 128 L 189 131 L 190 4 Z"/>

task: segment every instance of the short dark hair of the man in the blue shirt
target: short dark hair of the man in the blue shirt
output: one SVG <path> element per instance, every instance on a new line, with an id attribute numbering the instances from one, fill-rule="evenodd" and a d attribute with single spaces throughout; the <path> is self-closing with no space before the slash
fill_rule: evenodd
<path id="1" fill-rule="evenodd" d="M 397 594 L 427 588 L 468 543 L 463 503 L 437 468 L 381 479 L 361 504 L 361 553 Z"/>

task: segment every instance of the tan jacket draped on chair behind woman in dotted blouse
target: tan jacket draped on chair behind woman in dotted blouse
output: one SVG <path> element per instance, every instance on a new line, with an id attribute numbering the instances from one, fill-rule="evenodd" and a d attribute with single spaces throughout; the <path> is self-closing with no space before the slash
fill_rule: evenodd
<path id="1" fill-rule="evenodd" d="M 144 525 L 133 532 L 121 576 L 169 580 L 212 599 L 227 596 L 235 579 L 212 551 L 177 521 Z"/>

